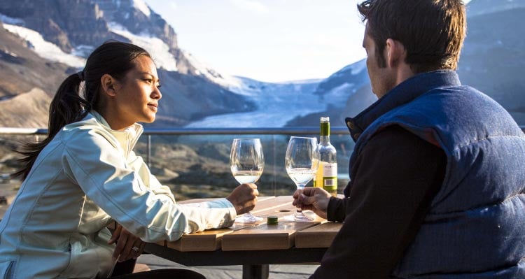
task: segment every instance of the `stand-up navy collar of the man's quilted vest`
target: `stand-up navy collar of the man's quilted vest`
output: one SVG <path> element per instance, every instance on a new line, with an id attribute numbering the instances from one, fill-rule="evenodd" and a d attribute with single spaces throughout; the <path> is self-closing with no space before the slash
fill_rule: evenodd
<path id="1" fill-rule="evenodd" d="M 405 103 L 416 99 L 421 94 L 437 87 L 459 86 L 458 74 L 456 71 L 439 70 L 427 73 L 419 73 L 394 87 L 381 99 L 378 99 L 371 106 L 363 110 L 356 117 L 346 117 L 345 122 L 353 141 L 357 141 L 360 134 L 384 113 L 402 106 Z"/>

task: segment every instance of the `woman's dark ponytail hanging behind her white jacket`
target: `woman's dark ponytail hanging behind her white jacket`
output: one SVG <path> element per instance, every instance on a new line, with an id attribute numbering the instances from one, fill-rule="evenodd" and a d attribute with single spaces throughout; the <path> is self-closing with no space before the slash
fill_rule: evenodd
<path id="1" fill-rule="evenodd" d="M 62 127 L 82 119 L 91 110 L 90 103 L 78 94 L 80 82 L 83 81 L 83 75 L 80 73 L 74 73 L 67 77 L 58 88 L 55 97 L 53 97 L 49 107 L 47 138 L 37 143 L 22 143 L 22 150 L 17 152 L 24 156 L 19 160 L 24 166 L 13 173 L 13 176 L 21 176 L 22 180 L 25 180 L 38 154 L 50 143 Z"/>

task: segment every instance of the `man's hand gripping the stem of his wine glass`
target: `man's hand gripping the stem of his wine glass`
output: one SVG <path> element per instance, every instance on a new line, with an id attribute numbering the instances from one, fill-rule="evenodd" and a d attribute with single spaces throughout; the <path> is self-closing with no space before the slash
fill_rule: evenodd
<path id="1" fill-rule="evenodd" d="M 293 193 L 293 205 L 300 204 L 302 210 L 312 210 L 319 217 L 326 219 L 326 211 L 328 210 L 328 202 L 330 201 L 330 193 L 319 187 L 304 187 L 302 190 L 297 190 Z"/>

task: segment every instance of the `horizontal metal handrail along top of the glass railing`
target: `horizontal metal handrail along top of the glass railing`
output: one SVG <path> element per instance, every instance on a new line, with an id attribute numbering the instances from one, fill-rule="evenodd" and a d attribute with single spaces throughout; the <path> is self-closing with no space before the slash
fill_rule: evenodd
<path id="1" fill-rule="evenodd" d="M 520 126 L 525 132 L 525 126 Z M 318 134 L 319 127 L 283 127 L 283 128 L 146 128 L 145 135 L 302 135 Z M 1 135 L 29 136 L 45 135 L 48 129 L 0 127 Z M 330 134 L 347 135 L 346 127 L 330 127 Z"/>

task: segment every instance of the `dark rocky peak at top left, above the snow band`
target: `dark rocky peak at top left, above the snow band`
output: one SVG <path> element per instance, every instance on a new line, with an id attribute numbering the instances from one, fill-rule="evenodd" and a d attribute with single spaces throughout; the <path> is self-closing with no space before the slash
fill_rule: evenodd
<path id="1" fill-rule="evenodd" d="M 134 34 L 152 34 L 170 49 L 177 48 L 174 29 L 153 11 L 145 15 L 137 10 L 133 0 L 0 0 L 0 13 L 24 20 L 25 27 L 38 31 L 64 52 L 111 39 L 126 41 L 109 31 L 109 22 L 119 22 Z"/>

